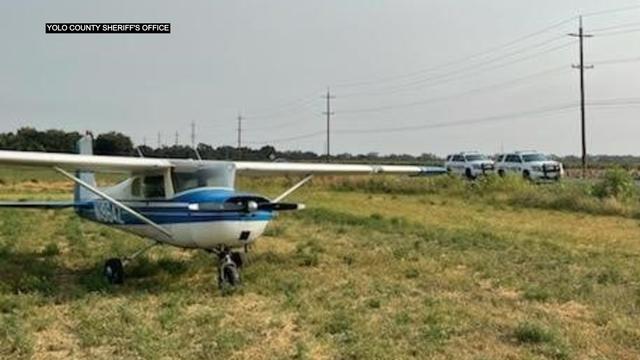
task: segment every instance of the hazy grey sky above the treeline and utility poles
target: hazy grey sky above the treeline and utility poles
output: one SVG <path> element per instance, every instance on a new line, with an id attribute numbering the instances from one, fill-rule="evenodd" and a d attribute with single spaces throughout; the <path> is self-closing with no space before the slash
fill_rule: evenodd
<path id="1" fill-rule="evenodd" d="M 159 132 L 190 143 L 194 121 L 197 141 L 235 144 L 241 112 L 252 146 L 322 152 L 329 86 L 333 153 L 578 154 L 578 14 L 597 35 L 589 152 L 640 154 L 640 2 L 627 0 L 3 1 L 0 131 L 116 130 L 155 146 Z M 46 22 L 172 33 L 45 34 Z"/>

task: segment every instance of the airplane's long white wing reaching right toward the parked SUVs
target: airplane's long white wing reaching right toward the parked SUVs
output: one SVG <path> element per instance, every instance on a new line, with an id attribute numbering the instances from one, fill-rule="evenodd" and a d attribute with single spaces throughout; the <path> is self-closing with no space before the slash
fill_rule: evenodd
<path id="1" fill-rule="evenodd" d="M 412 165 L 362 165 L 321 163 L 234 162 L 236 171 L 247 175 L 368 175 L 408 174 L 440 175 L 447 171 L 440 167 Z"/>

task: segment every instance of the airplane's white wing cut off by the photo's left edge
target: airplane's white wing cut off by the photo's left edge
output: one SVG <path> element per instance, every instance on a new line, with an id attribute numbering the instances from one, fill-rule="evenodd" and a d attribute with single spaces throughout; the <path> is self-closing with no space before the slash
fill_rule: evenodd
<path id="1" fill-rule="evenodd" d="M 0 164 L 60 167 L 67 170 L 134 172 L 171 168 L 167 159 L 76 155 L 30 151 L 0 151 Z"/>

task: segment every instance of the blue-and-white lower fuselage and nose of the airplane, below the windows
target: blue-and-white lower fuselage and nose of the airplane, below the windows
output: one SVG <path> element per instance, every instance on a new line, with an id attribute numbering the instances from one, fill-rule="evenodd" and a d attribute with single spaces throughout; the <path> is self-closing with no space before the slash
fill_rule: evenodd
<path id="1" fill-rule="evenodd" d="M 122 201 L 134 211 L 165 228 L 165 236 L 109 201 L 90 199 L 75 207 L 82 218 L 183 248 L 243 247 L 255 241 L 275 213 L 264 210 L 229 210 L 228 204 L 266 198 L 232 189 L 199 188 L 170 199 Z"/>

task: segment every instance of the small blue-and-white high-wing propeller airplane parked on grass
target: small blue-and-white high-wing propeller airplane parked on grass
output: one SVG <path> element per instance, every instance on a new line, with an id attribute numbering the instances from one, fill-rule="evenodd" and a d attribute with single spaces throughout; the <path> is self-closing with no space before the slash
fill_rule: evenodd
<path id="1" fill-rule="evenodd" d="M 130 256 L 104 264 L 112 284 L 124 281 L 123 264 L 150 248 L 169 244 L 204 249 L 217 255 L 221 288 L 240 283 L 248 245 L 256 241 L 280 211 L 304 209 L 283 200 L 314 175 L 410 174 L 437 175 L 439 167 L 349 165 L 292 162 L 212 161 L 144 157 L 96 156 L 90 135 L 77 143 L 78 154 L 0 151 L 0 164 L 54 169 L 72 180 L 73 201 L 4 201 L 0 207 L 73 208 L 80 217 L 112 226 L 152 242 Z M 99 188 L 95 172 L 129 174 L 126 180 Z M 302 179 L 280 196 L 237 192 L 236 174 L 294 175 Z M 243 252 L 236 251 L 244 249 Z"/>

